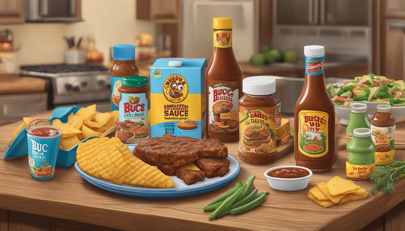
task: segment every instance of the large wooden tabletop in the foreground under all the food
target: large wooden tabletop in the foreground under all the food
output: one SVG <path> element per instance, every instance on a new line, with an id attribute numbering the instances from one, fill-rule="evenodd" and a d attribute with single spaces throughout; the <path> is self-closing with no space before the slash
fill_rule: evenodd
<path id="1" fill-rule="evenodd" d="M 49 118 L 51 111 L 35 117 Z M 0 153 L 4 153 L 11 133 L 20 122 L 0 127 Z M 404 124 L 404 123 L 403 123 Z M 398 125 L 397 125 L 398 126 Z M 399 126 L 398 126 L 399 127 Z M 397 128 L 399 129 L 399 128 Z M 401 129 L 404 126 L 401 124 Z M 277 191 L 269 187 L 265 170 L 277 165 L 294 165 L 293 152 L 269 165 L 251 165 L 237 155 L 237 144 L 227 144 L 230 155 L 241 163 L 237 178 L 244 181 L 256 175 L 254 186 L 269 191 L 266 201 L 254 210 L 236 216 L 208 221 L 202 208 L 236 184 L 236 179 L 215 191 L 175 199 L 143 199 L 110 193 L 81 178 L 74 167 L 56 167 L 51 180 L 31 178 L 27 157 L 0 158 L 0 208 L 36 213 L 62 219 L 92 223 L 123 230 L 358 230 L 405 199 L 405 178 L 396 180 L 395 193 L 379 192 L 358 201 L 323 208 L 307 198 L 307 191 L 333 176 L 345 177 L 345 127 L 338 142 L 338 157 L 333 169 L 314 173 L 307 189 Z M 403 139 L 398 137 L 398 139 Z M 405 150 L 396 150 L 404 159 Z M 369 191 L 373 182 L 356 182 Z"/>

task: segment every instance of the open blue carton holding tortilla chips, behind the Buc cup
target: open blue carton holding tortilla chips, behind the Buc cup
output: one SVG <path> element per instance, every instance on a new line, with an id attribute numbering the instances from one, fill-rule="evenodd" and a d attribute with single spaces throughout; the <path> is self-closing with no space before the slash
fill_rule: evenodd
<path id="1" fill-rule="evenodd" d="M 82 107 L 79 106 L 72 106 L 72 107 L 60 107 L 55 108 L 52 113 L 52 118 L 48 119 L 49 121 L 53 121 L 54 119 L 60 119 L 62 123 L 66 123 L 68 121 L 68 116 L 70 113 L 76 114 L 76 112 Z M 4 159 L 10 157 L 22 157 L 28 154 L 28 142 L 27 142 L 27 129 L 22 129 L 17 137 L 13 140 L 10 144 L 9 148 L 7 148 L 6 152 L 4 153 Z M 98 136 L 92 136 L 81 142 L 86 142 L 87 140 L 97 138 Z M 81 143 L 79 142 L 79 144 Z M 69 150 L 59 149 L 58 151 L 58 158 L 56 160 L 56 165 L 61 167 L 70 167 L 72 164 L 76 162 L 76 144 Z M 59 148 L 59 146 L 58 146 Z"/>

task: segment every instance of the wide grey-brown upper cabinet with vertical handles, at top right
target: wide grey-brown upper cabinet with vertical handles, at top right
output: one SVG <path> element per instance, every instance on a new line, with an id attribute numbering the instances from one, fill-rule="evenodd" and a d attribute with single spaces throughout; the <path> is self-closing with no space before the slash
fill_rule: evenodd
<path id="1" fill-rule="evenodd" d="M 369 25 L 371 0 L 276 0 L 274 2 L 276 22 L 279 25 Z"/>

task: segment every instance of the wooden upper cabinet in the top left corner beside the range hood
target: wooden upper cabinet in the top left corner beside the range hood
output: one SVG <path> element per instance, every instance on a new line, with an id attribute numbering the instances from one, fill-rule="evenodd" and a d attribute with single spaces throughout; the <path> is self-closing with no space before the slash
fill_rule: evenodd
<path id="1" fill-rule="evenodd" d="M 0 0 L 0 25 L 24 23 L 24 0 Z"/>

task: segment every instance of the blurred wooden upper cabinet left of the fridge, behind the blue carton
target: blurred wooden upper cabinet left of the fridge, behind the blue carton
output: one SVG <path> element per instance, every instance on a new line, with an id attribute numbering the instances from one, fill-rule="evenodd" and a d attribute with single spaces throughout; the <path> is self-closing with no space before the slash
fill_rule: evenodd
<path id="1" fill-rule="evenodd" d="M 180 0 L 137 0 L 136 18 L 156 23 L 178 23 Z"/>

